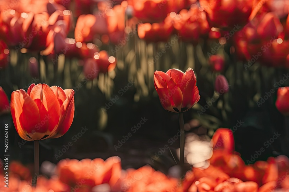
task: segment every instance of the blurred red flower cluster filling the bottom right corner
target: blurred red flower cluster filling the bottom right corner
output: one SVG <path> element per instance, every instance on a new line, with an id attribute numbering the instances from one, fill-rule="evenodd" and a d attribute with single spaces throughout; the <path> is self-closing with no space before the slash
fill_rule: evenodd
<path id="1" fill-rule="evenodd" d="M 234 151 L 233 132 L 219 128 L 213 138 L 213 155 L 206 169 L 193 168 L 186 177 L 184 191 L 199 192 L 272 192 L 289 190 L 289 159 L 284 155 L 269 157 L 245 165 Z M 276 190 L 277 191 L 277 190 Z"/>

